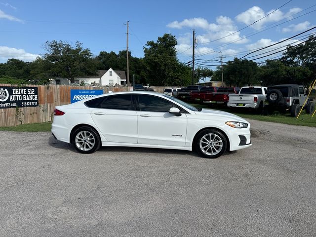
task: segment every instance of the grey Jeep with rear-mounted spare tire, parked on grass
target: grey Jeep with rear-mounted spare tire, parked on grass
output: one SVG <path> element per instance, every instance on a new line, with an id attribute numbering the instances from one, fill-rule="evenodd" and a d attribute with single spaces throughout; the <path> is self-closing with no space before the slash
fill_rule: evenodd
<path id="1" fill-rule="evenodd" d="M 272 113 L 289 111 L 291 116 L 297 117 L 301 107 L 307 99 L 307 91 L 303 85 L 284 84 L 268 87 L 266 98 L 266 111 Z M 308 98 L 304 106 L 307 114 L 313 114 L 315 104 L 312 98 Z"/>

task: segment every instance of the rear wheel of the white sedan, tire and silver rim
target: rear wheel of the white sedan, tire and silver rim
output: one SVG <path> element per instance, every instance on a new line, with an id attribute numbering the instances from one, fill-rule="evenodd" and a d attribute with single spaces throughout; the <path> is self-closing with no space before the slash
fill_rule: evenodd
<path id="1" fill-rule="evenodd" d="M 83 154 L 97 151 L 101 146 L 99 134 L 91 127 L 79 127 L 73 135 L 75 149 Z"/>

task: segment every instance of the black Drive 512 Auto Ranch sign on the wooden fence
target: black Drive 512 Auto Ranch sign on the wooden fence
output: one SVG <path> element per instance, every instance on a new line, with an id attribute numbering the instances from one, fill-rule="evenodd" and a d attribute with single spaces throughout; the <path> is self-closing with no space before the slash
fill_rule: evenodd
<path id="1" fill-rule="evenodd" d="M 0 109 L 39 106 L 38 87 L 0 86 Z"/>

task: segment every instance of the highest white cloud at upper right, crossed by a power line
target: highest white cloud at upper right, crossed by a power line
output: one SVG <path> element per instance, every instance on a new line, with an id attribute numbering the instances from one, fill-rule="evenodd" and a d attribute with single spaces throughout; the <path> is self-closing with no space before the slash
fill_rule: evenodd
<path id="1" fill-rule="evenodd" d="M 266 23 L 276 22 L 276 21 L 280 21 L 280 20 L 285 19 L 285 18 L 289 18 L 291 15 L 296 14 L 296 13 L 300 12 L 301 10 L 302 10 L 301 8 L 294 7 L 294 8 L 289 9 L 289 11 L 286 13 L 283 13 L 282 11 L 280 11 L 278 9 L 275 12 L 273 12 L 274 9 L 272 9 L 268 12 L 265 12 L 259 6 L 253 6 L 253 7 L 249 8 L 248 10 L 237 15 L 236 20 L 238 22 L 242 22 L 246 25 L 250 25 L 250 24 L 254 23 L 255 21 L 263 18 L 265 15 L 271 13 L 267 17 L 261 19 L 260 21 L 258 21 L 255 24 L 250 26 L 250 27 L 254 28 L 255 30 L 259 30 L 263 26 L 265 26 Z"/>

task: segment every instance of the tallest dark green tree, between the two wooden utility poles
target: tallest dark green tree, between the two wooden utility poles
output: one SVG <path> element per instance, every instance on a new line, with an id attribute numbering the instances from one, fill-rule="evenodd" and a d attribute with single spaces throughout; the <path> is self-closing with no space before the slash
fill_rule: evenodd
<path id="1" fill-rule="evenodd" d="M 188 85 L 191 69 L 178 61 L 177 40 L 171 34 L 158 37 L 156 42 L 148 41 L 144 47 L 144 64 L 147 81 L 158 86 Z"/>

